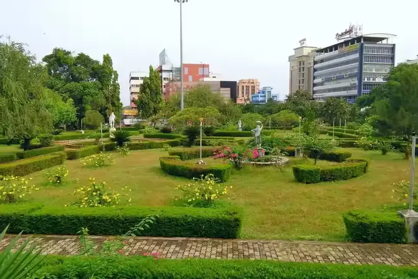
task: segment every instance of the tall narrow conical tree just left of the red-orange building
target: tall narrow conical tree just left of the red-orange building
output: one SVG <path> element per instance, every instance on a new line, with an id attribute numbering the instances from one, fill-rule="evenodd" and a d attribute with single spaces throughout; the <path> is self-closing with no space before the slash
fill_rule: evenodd
<path id="1" fill-rule="evenodd" d="M 158 71 L 149 66 L 149 78 L 144 78 L 139 89 L 137 109 L 141 118 L 149 118 L 160 112 L 163 105 L 161 78 Z"/>

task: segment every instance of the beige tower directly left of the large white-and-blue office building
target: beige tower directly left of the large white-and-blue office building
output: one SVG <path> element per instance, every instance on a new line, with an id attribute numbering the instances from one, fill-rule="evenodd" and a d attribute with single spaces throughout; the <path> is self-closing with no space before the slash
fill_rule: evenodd
<path id="1" fill-rule="evenodd" d="M 289 56 L 289 94 L 296 90 L 312 92 L 315 46 L 300 46 L 294 48 L 295 54 Z"/>

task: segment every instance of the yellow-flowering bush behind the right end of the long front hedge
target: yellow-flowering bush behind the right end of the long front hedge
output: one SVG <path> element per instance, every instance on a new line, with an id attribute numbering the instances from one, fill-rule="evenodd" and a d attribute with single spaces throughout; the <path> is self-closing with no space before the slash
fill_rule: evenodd
<path id="1" fill-rule="evenodd" d="M 178 185 L 175 190 L 182 191 L 182 195 L 175 197 L 175 200 L 186 202 L 186 205 L 191 207 L 210 207 L 214 201 L 226 196 L 228 190 L 232 189 L 232 186 L 221 186 L 219 182 L 212 173 L 204 177 L 201 175 L 200 179 L 194 178 L 192 183 Z"/>

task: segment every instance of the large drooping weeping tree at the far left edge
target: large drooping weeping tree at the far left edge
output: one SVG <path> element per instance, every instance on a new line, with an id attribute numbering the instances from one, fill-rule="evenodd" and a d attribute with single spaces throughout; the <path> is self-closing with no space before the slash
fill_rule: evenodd
<path id="1" fill-rule="evenodd" d="M 21 43 L 0 41 L 0 130 L 23 140 L 23 148 L 52 129 L 45 106 L 45 70 Z"/>

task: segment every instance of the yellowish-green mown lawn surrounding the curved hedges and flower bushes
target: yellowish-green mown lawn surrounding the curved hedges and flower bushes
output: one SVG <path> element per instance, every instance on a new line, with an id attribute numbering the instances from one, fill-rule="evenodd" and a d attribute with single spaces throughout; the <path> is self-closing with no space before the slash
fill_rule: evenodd
<path id="1" fill-rule="evenodd" d="M 181 147 L 171 150 L 176 149 Z M 306 185 L 294 180 L 291 166 L 313 164 L 313 161 L 299 158 L 291 158 L 282 173 L 273 167 L 252 166 L 233 171 L 225 185 L 233 186 L 230 202 L 243 208 L 241 237 L 344 241 L 343 213 L 353 209 L 383 210 L 385 206 L 399 205 L 391 199 L 391 184 L 409 179 L 409 162 L 402 159 L 402 154 L 382 156 L 379 151 L 342 150 L 350 151 L 353 158 L 370 159 L 369 172 L 347 181 Z M 167 155 L 162 149 L 132 151 L 128 157 L 112 153 L 116 163 L 102 169 L 86 169 L 79 160 L 67 161 L 70 178 L 79 177 L 80 183 L 45 186 L 33 193 L 32 200 L 63 206 L 76 200 L 73 191 L 87 185 L 88 177 L 95 177 L 96 181 L 107 182 L 112 189 L 129 186 L 133 205 L 171 205 L 173 197 L 180 194 L 174 187 L 190 180 L 170 176 L 160 169 L 159 157 Z M 210 158 L 204 160 L 208 164 L 221 162 Z M 336 163 L 319 161 L 318 164 Z M 28 177 L 33 177 L 35 184 L 42 185 L 46 171 Z"/>

